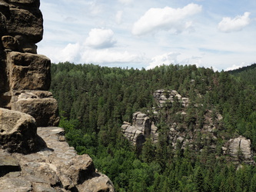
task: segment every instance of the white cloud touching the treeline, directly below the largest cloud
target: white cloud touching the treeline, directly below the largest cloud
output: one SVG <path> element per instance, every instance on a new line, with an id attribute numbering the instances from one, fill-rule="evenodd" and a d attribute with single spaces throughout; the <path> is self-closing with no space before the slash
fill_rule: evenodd
<path id="1" fill-rule="evenodd" d="M 177 64 L 177 57 L 180 55 L 180 53 L 177 52 L 169 52 L 164 55 L 158 55 L 154 58 L 151 58 L 151 62 L 147 69 L 155 68 L 156 66 L 160 65 L 170 65 L 170 64 Z"/>

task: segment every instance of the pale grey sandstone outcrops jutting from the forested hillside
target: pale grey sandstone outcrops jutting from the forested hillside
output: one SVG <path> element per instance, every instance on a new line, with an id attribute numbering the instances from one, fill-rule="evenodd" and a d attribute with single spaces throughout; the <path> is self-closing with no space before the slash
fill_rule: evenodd
<path id="1" fill-rule="evenodd" d="M 153 118 L 148 118 L 147 114 L 136 112 L 133 114 L 132 123 L 124 122 L 121 126 L 124 136 L 135 145 L 138 150 L 141 150 L 145 139 L 151 137 L 153 143 L 158 142 L 158 127 L 155 126 L 154 121 L 158 121 L 160 110 L 163 108 L 172 108 L 175 98 L 181 104 L 181 108 L 175 111 L 172 115 L 179 117 L 178 121 L 175 118 L 168 117 L 164 112 L 165 118 L 169 118 L 168 122 L 168 142 L 172 147 L 176 148 L 177 143 L 181 144 L 181 148 L 190 147 L 195 152 L 207 150 L 216 151 L 218 141 L 218 128 L 220 127 L 222 116 L 211 110 L 205 110 L 201 117 L 201 124 L 194 121 L 194 126 L 189 127 L 188 124 L 183 123 L 187 117 L 186 109 L 188 107 L 188 98 L 182 98 L 177 91 L 158 90 L 153 94 L 155 98 L 156 107 L 152 108 L 151 115 Z M 200 104 L 194 104 L 194 108 L 198 108 Z M 150 111 L 148 111 L 150 112 Z M 223 139 L 224 137 L 222 137 Z M 222 147 L 223 154 L 227 159 L 235 163 L 254 164 L 253 151 L 251 150 L 251 141 L 243 136 L 229 140 L 224 147 Z"/>

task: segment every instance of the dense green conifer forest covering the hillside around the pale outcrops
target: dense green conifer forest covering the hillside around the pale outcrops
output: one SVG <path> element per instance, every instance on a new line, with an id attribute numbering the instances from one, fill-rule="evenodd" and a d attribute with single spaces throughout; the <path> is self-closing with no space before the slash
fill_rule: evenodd
<path id="1" fill-rule="evenodd" d="M 78 154 L 89 154 L 117 191 L 256 191 L 254 164 L 244 164 L 240 157 L 237 169 L 221 149 L 229 139 L 243 135 L 256 151 L 256 93 L 250 82 L 195 65 L 138 70 L 65 62 L 52 64 L 51 91 L 68 143 Z M 123 136 L 121 124 L 131 122 L 136 111 L 154 118 L 153 93 L 158 89 L 176 90 L 190 103 L 185 109 L 178 104 L 161 109 L 155 119 L 158 143 L 149 138 L 138 151 Z M 177 114 L 181 110 L 185 118 Z M 216 114 L 223 117 L 216 120 L 214 141 L 200 133 L 206 111 L 213 121 Z M 199 130 L 193 144 L 169 143 L 166 133 L 174 121 L 185 133 Z"/>

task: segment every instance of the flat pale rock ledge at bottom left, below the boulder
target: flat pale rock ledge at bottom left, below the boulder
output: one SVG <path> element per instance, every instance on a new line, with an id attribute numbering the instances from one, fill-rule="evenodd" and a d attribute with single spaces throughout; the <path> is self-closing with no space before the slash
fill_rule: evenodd
<path id="1" fill-rule="evenodd" d="M 0 149 L 0 167 L 5 169 L 0 191 L 115 191 L 111 180 L 95 171 L 91 157 L 76 154 L 63 134 L 59 127 L 38 127 L 48 147 L 34 154 L 8 154 Z M 10 164 L 15 169 L 8 169 Z"/>

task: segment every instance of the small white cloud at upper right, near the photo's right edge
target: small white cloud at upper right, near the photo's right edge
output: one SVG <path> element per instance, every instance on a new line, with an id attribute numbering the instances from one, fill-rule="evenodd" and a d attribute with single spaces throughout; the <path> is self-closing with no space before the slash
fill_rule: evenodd
<path id="1" fill-rule="evenodd" d="M 222 18 L 218 24 L 218 29 L 222 32 L 241 31 L 251 22 L 250 14 L 250 12 L 244 12 L 244 15 L 238 15 L 235 18 Z"/>

